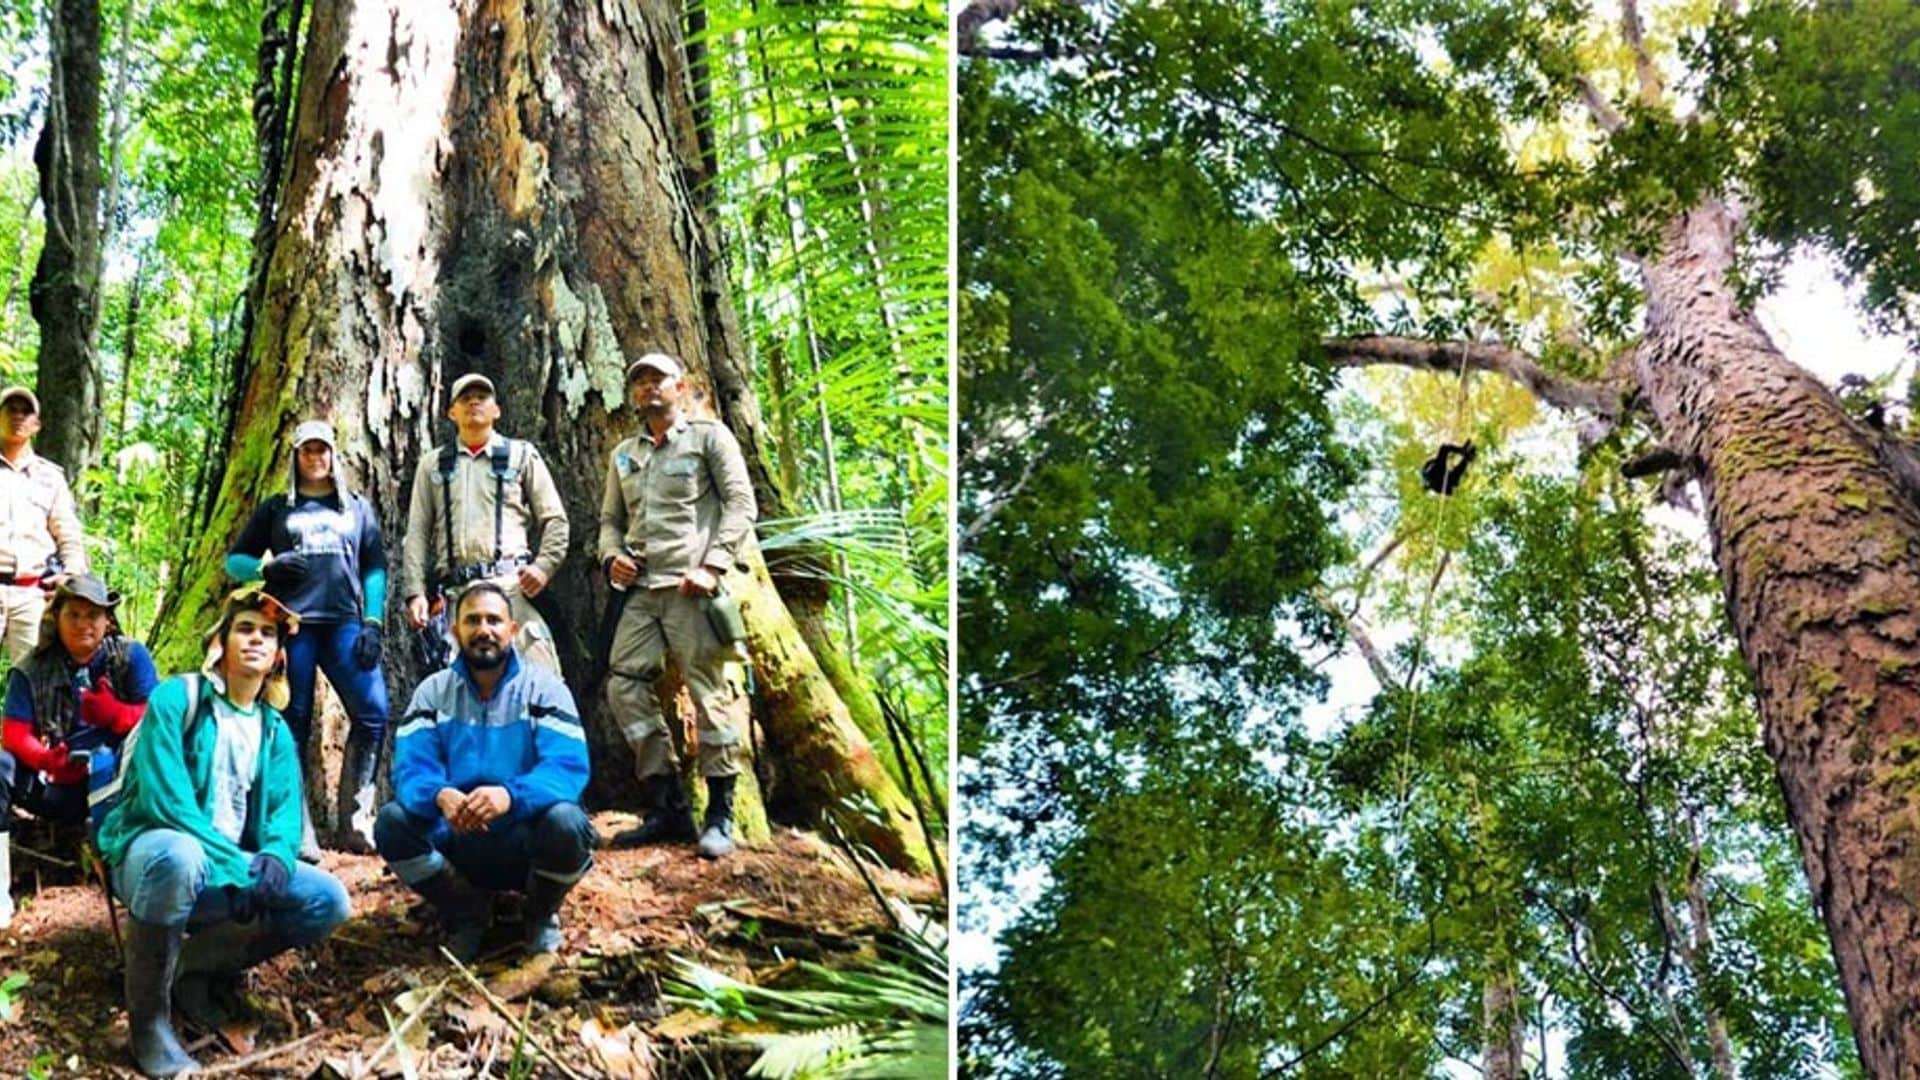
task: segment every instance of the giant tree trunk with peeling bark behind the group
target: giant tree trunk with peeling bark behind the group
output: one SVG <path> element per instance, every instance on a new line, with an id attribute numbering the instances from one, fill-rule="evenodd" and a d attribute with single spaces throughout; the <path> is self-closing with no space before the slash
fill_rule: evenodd
<path id="1" fill-rule="evenodd" d="M 605 600 L 593 567 L 601 482 L 614 442 L 637 427 L 624 357 L 664 350 L 707 375 L 762 515 L 783 505 L 699 175 L 674 4 L 317 6 L 225 479 L 157 634 L 169 659 L 192 651 L 223 584 L 219 557 L 253 503 L 286 484 L 284 440 L 300 417 L 336 421 L 342 459 L 397 557 L 413 469 L 451 436 L 445 386 L 482 371 L 499 386 L 501 430 L 541 448 L 572 521 L 570 557 L 541 607 L 586 713 L 589 794 L 632 796 L 630 755 L 588 684 Z M 906 799 L 758 552 L 747 563 L 741 600 L 778 782 L 810 815 L 872 798 L 879 813 L 843 826 L 895 865 L 924 865 Z M 411 678 L 396 678 L 396 711 L 407 690 Z"/>

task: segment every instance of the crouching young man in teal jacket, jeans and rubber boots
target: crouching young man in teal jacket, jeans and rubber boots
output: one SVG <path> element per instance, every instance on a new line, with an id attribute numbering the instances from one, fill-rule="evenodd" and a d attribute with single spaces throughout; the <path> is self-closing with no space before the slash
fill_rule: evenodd
<path id="1" fill-rule="evenodd" d="M 127 740 L 100 855 L 131 915 L 127 1017 L 146 1076 L 198 1065 L 173 1032 L 175 1007 L 209 1030 L 240 1019 L 246 969 L 326 938 L 349 913 L 332 874 L 294 859 L 300 753 L 280 707 L 296 625 L 259 588 L 232 592 L 202 673 L 161 682 Z"/>

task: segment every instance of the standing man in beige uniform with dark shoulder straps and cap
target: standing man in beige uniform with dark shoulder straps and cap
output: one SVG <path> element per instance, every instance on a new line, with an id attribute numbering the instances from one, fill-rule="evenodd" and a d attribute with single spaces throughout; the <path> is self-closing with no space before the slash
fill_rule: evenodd
<path id="1" fill-rule="evenodd" d="M 566 557 L 566 505 L 540 450 L 493 430 L 493 380 L 461 375 L 449 400 L 455 442 L 420 457 L 407 503 L 399 571 L 407 625 L 419 630 L 440 596 L 492 580 L 513 600 L 520 653 L 559 675 L 553 630 L 528 601 Z"/>

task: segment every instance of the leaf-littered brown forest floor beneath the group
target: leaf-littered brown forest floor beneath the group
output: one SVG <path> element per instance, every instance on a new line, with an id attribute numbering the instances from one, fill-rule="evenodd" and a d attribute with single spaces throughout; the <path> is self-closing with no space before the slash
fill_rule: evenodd
<path id="1" fill-rule="evenodd" d="M 593 821 L 607 836 L 634 817 Z M 21 905 L 0 934 L 0 1076 L 138 1076 L 106 894 L 21 851 L 33 844 L 17 832 Z M 321 865 L 348 886 L 353 919 L 324 944 L 253 969 L 257 1030 L 182 1032 L 202 1074 L 741 1076 L 755 1055 L 718 1017 L 662 999 L 672 957 L 766 982 L 795 961 L 872 955 L 887 922 L 843 853 L 791 828 L 718 863 L 691 847 L 601 851 L 561 911 L 557 957 L 520 953 L 509 897 L 470 980 L 442 957 L 430 909 L 376 855 L 326 851 Z M 893 897 L 941 905 L 933 878 L 874 878 Z M 419 1020 L 407 1024 L 409 1013 Z M 524 1061 L 511 1067 L 515 1057 Z"/>

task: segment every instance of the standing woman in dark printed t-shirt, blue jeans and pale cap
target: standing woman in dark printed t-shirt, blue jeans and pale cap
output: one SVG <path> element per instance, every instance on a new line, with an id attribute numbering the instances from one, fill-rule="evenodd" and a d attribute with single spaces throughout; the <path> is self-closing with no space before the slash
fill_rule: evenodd
<path id="1" fill-rule="evenodd" d="M 353 724 L 334 803 L 340 830 L 328 836 L 328 846 L 371 855 L 374 759 L 388 717 L 380 663 L 386 544 L 372 505 L 346 486 L 330 423 L 305 421 L 294 429 L 288 473 L 286 494 L 273 494 L 253 509 L 227 555 L 227 573 L 240 582 L 265 580 L 300 615 L 300 634 L 286 644 L 286 726 L 305 761 L 313 675 L 324 671 Z M 324 786 L 323 776 L 311 780 L 309 788 Z"/>

